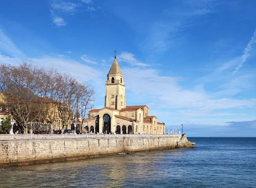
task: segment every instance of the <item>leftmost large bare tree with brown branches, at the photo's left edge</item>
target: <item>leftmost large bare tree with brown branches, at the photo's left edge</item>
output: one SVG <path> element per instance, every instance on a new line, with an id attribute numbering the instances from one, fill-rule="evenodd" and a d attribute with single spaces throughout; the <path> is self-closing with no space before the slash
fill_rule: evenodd
<path id="1" fill-rule="evenodd" d="M 27 134 L 27 122 L 36 118 L 37 96 L 34 95 L 34 74 L 31 64 L 22 63 L 18 67 L 0 66 L 0 92 L 11 115 Z"/>

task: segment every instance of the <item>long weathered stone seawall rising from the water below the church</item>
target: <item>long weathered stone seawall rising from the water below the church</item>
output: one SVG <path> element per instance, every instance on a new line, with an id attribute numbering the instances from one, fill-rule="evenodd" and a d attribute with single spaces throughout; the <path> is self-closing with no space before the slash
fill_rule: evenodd
<path id="1" fill-rule="evenodd" d="M 0 141 L 0 166 L 28 165 L 114 155 L 122 152 L 192 147 L 179 137 L 87 138 Z"/>

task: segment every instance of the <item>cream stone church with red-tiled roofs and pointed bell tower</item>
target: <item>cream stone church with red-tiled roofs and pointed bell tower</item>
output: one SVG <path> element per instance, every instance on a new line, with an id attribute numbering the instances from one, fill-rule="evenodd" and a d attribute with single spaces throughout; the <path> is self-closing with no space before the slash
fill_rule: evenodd
<path id="1" fill-rule="evenodd" d="M 90 110 L 83 127 L 92 133 L 165 134 L 165 124 L 149 116 L 147 105 L 126 106 L 124 77 L 116 56 L 107 74 L 105 107 Z"/>

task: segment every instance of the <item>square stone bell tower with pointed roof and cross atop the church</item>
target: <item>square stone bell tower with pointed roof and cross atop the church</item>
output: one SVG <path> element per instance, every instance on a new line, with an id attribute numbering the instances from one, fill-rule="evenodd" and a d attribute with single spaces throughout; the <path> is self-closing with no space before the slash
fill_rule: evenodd
<path id="1" fill-rule="evenodd" d="M 116 52 L 116 50 L 114 51 Z M 114 61 L 105 84 L 105 107 L 120 110 L 126 107 L 123 74 L 114 54 Z"/>

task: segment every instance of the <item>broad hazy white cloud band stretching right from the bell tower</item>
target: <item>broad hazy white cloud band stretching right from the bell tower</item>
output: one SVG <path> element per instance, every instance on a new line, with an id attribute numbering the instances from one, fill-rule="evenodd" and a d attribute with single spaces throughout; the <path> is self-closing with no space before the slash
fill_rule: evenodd
<path id="1" fill-rule="evenodd" d="M 126 89 L 145 94 L 150 106 L 165 109 L 196 108 L 196 111 L 254 107 L 256 99 L 212 98 L 203 91 L 185 90 L 178 77 L 161 76 L 155 69 L 124 68 Z M 136 76 L 133 76 L 136 73 Z"/>

